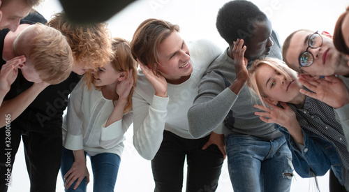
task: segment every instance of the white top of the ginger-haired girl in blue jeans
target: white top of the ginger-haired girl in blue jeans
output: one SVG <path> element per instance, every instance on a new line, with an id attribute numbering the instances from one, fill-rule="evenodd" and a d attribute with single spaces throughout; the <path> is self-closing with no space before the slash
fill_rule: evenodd
<path id="1" fill-rule="evenodd" d="M 70 150 L 84 149 L 90 156 L 117 154 L 124 150 L 124 133 L 133 122 L 132 112 L 105 127 L 114 105 L 94 87 L 87 90 L 80 81 L 70 94 L 67 115 L 63 121 L 63 146 Z"/>

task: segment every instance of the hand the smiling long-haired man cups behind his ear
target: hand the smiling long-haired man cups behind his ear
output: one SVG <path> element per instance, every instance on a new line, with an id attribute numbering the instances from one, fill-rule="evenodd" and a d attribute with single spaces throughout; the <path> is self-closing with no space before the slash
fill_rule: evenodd
<path id="1" fill-rule="evenodd" d="M 140 64 L 140 69 L 147 77 L 147 79 L 151 82 L 155 89 L 155 95 L 160 97 L 168 97 L 168 82 L 166 82 L 165 77 L 158 73 L 155 75 L 153 71 L 146 65 L 142 64 L 138 59 L 138 63 Z"/>

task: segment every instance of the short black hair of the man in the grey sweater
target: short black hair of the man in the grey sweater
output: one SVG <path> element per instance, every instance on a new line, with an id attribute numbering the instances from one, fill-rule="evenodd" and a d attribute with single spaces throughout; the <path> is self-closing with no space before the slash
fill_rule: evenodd
<path id="1" fill-rule="evenodd" d="M 232 45 L 237 38 L 245 42 L 255 33 L 255 22 L 264 22 L 267 15 L 250 1 L 235 0 L 225 3 L 218 10 L 216 27 L 222 38 Z"/>

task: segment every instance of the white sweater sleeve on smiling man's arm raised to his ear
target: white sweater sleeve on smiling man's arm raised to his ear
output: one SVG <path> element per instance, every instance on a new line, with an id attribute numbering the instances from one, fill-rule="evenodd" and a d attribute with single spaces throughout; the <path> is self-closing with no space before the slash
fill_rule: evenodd
<path id="1" fill-rule="evenodd" d="M 147 160 L 154 158 L 163 141 L 168 101 L 154 95 L 150 105 L 138 91 L 133 92 L 133 145 Z"/>

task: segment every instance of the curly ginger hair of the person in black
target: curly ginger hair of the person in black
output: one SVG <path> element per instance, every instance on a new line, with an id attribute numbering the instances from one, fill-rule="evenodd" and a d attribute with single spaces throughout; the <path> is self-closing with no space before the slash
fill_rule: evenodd
<path id="1" fill-rule="evenodd" d="M 73 24 L 65 13 L 57 13 L 47 25 L 67 37 L 75 61 L 85 68 L 97 68 L 110 62 L 113 52 L 106 23 Z"/>

